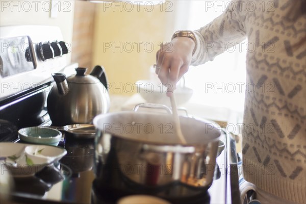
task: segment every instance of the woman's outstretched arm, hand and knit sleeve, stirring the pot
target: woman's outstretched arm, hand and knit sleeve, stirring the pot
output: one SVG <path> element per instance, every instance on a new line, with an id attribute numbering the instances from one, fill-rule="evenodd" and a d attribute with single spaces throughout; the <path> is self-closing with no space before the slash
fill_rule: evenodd
<path id="1" fill-rule="evenodd" d="M 232 1 L 219 17 L 193 31 L 195 41 L 188 37 L 175 37 L 157 52 L 156 73 L 163 85 L 171 84 L 169 92 L 176 88 L 176 82 L 188 71 L 190 64 L 199 65 L 213 60 L 225 48 L 245 39 L 244 7 L 243 2 Z"/>

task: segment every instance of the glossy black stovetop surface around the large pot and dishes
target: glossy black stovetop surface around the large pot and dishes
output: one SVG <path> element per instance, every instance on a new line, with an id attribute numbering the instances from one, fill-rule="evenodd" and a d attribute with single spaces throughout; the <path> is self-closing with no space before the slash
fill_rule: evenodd
<path id="1" fill-rule="evenodd" d="M 235 198 L 229 180 L 233 173 L 229 172 L 226 154 L 231 150 L 230 140 L 226 138 L 229 135 L 221 137 L 226 146 L 217 158 L 213 184 L 201 197 L 186 197 L 181 200 L 182 203 L 230 203 Z M 31 203 L 115 203 L 118 199 L 116 195 L 122 192 L 101 188 L 94 180 L 94 140 L 66 134 L 62 146 L 67 155 L 58 164 L 47 166 L 35 176 L 14 179 L 13 200 Z M 239 194 L 236 193 L 237 196 Z M 175 199 L 171 201 L 176 203 Z"/>

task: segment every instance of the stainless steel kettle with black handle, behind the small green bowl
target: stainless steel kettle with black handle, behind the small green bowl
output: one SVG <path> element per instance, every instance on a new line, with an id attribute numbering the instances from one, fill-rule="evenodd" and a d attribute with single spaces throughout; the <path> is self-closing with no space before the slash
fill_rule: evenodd
<path id="1" fill-rule="evenodd" d="M 87 68 L 76 68 L 76 75 L 66 79 L 63 73 L 53 73 L 56 85 L 49 92 L 47 109 L 53 125 L 92 123 L 98 114 L 110 108 L 110 96 L 104 68 L 95 66 L 89 75 Z"/>

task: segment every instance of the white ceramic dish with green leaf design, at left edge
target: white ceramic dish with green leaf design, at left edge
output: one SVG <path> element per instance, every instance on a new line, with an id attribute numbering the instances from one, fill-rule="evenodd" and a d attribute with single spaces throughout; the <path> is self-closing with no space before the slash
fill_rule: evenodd
<path id="1" fill-rule="evenodd" d="M 32 176 L 66 154 L 67 151 L 61 147 L 1 142 L 1 171 L 9 171 L 16 177 Z"/>

